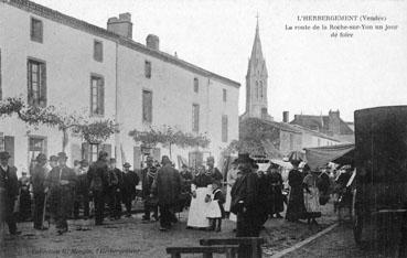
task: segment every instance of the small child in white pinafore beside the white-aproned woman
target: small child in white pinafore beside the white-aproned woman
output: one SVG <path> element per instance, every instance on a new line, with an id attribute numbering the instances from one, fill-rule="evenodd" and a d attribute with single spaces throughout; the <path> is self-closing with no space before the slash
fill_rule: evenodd
<path id="1" fill-rule="evenodd" d="M 222 218 L 225 216 L 225 209 L 223 204 L 225 203 L 225 196 L 221 190 L 221 182 L 214 181 L 212 183 L 213 192 L 211 196 L 211 204 L 208 206 L 207 218 L 210 219 L 210 230 L 221 232 Z"/>

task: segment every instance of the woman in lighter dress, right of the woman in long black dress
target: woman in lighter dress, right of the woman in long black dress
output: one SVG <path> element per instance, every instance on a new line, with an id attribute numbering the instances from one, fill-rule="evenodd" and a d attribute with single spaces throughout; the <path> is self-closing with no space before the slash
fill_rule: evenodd
<path id="1" fill-rule="evenodd" d="M 307 209 L 308 224 L 318 224 L 315 218 L 321 217 L 321 206 L 320 206 L 320 193 L 317 186 L 318 174 L 312 172 L 310 166 L 306 165 L 303 172 L 307 173 L 303 179 L 304 191 L 303 198 Z"/>

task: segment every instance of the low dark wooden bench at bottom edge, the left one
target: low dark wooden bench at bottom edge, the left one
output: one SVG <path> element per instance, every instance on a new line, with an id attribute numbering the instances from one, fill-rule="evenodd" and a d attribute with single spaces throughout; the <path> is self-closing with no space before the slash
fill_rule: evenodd
<path id="1" fill-rule="evenodd" d="M 181 254 L 203 254 L 203 258 L 212 258 L 213 254 L 226 254 L 226 258 L 235 258 L 238 248 L 238 245 L 167 247 L 167 254 L 170 254 L 171 258 L 181 258 Z"/>

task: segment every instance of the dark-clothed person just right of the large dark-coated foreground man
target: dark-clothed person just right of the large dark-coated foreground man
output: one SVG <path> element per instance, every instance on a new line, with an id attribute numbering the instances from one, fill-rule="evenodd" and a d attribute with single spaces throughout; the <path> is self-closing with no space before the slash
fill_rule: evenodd
<path id="1" fill-rule="evenodd" d="M 267 178 L 270 184 L 270 204 L 269 214 L 270 217 L 282 218 L 280 213 L 283 211 L 283 196 L 282 196 L 282 176 L 279 172 L 279 165 L 272 163 L 267 170 Z"/>

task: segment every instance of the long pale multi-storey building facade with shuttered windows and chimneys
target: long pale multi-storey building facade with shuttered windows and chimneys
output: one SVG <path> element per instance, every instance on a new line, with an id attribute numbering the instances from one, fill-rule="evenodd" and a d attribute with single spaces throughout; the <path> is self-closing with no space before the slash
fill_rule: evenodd
<path id="1" fill-rule="evenodd" d="M 208 148 L 173 148 L 174 161 L 194 153 L 221 159 L 238 138 L 239 84 L 161 52 L 156 35 L 147 36 L 146 45 L 132 41 L 129 13 L 109 19 L 101 29 L 31 1 L 0 1 L 0 34 L 2 99 L 21 97 L 30 105 L 118 123 L 119 132 L 100 144 L 69 132 L 65 151 L 71 164 L 93 161 L 101 149 L 135 168 L 147 153 L 156 159 L 169 154 L 160 146 L 140 147 L 128 136 L 133 129 L 171 126 L 206 133 Z M 62 139 L 57 129 L 1 118 L 0 149 L 12 154 L 20 172 L 39 152 L 61 151 Z"/>

